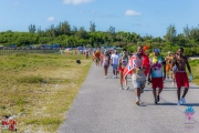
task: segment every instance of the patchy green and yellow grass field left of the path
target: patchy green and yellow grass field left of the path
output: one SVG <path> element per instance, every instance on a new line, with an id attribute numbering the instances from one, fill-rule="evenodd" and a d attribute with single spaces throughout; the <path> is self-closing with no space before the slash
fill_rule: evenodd
<path id="1" fill-rule="evenodd" d="M 19 132 L 56 132 L 91 64 L 84 55 L 0 57 L 0 116 L 15 115 Z"/>

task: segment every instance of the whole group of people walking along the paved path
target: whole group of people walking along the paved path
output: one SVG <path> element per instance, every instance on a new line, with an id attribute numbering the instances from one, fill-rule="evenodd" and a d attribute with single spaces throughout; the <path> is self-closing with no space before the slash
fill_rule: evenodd
<path id="1" fill-rule="evenodd" d="M 150 55 L 150 52 L 153 52 L 153 55 Z M 112 53 L 108 51 L 104 53 L 96 51 L 94 53 L 94 61 L 96 66 L 104 66 L 105 79 L 107 78 L 109 65 L 113 66 L 113 79 L 117 79 L 117 74 L 119 73 L 121 90 L 129 89 L 127 86 L 127 75 L 132 76 L 135 89 L 135 103 L 137 105 L 142 104 L 140 93 L 144 92 L 147 80 L 151 83 L 154 101 L 157 104 L 160 101 L 164 80 L 166 78 L 169 79 L 169 74 L 171 74 L 170 78 L 172 79 L 171 85 L 177 88 L 177 105 L 186 104 L 185 96 L 189 89 L 186 66 L 190 74 L 191 69 L 187 57 L 184 55 L 182 48 L 179 48 L 176 53 L 168 52 L 168 57 L 166 58 L 161 57 L 159 49 L 151 50 L 148 45 L 138 45 L 134 54 L 132 52 L 127 54 L 126 50 L 123 50 L 121 54 L 117 51 L 113 51 Z M 180 94 L 181 86 L 185 86 L 182 95 Z"/>

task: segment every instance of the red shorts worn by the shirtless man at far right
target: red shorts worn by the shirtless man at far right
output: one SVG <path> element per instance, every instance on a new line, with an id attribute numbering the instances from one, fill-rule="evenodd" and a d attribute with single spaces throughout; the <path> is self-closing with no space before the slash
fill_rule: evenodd
<path id="1" fill-rule="evenodd" d="M 178 89 L 181 89 L 181 86 L 189 88 L 189 80 L 187 76 L 187 72 L 176 72 L 176 85 Z"/>

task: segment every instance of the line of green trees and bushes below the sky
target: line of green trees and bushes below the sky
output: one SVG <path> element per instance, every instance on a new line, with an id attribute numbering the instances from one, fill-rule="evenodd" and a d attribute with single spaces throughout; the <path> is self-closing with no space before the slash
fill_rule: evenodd
<path id="1" fill-rule="evenodd" d="M 29 32 L 13 32 L 11 30 L 0 32 L 0 44 L 17 44 L 24 47 L 28 44 L 54 44 L 62 47 L 121 47 L 134 50 L 136 44 L 149 44 L 153 48 L 160 47 L 165 51 L 174 50 L 177 47 L 191 49 L 199 45 L 199 25 L 189 28 L 186 25 L 182 33 L 177 33 L 175 24 L 167 28 L 164 38 L 153 35 L 140 37 L 136 32 L 115 31 L 109 27 L 107 31 L 96 31 L 96 24 L 90 22 L 90 30 L 84 27 L 71 27 L 67 21 L 60 22 L 57 25 L 50 25 L 44 30 L 35 24 L 29 25 Z M 199 50 L 192 50 L 193 54 L 199 54 Z"/>

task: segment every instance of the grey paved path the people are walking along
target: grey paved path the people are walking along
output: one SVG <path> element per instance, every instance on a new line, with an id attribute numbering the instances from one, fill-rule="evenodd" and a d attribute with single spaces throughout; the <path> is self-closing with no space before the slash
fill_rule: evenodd
<path id="1" fill-rule="evenodd" d="M 130 79 L 130 89 L 124 91 L 112 76 L 112 68 L 104 79 L 103 69 L 92 65 L 59 133 L 199 133 L 199 86 L 191 84 L 188 104 L 178 106 L 176 89 L 167 80 L 158 105 L 147 86 L 142 94 L 144 104 L 138 106 Z M 192 130 L 185 124 L 189 121 L 184 111 L 189 105 L 196 111 L 190 121 Z"/>

